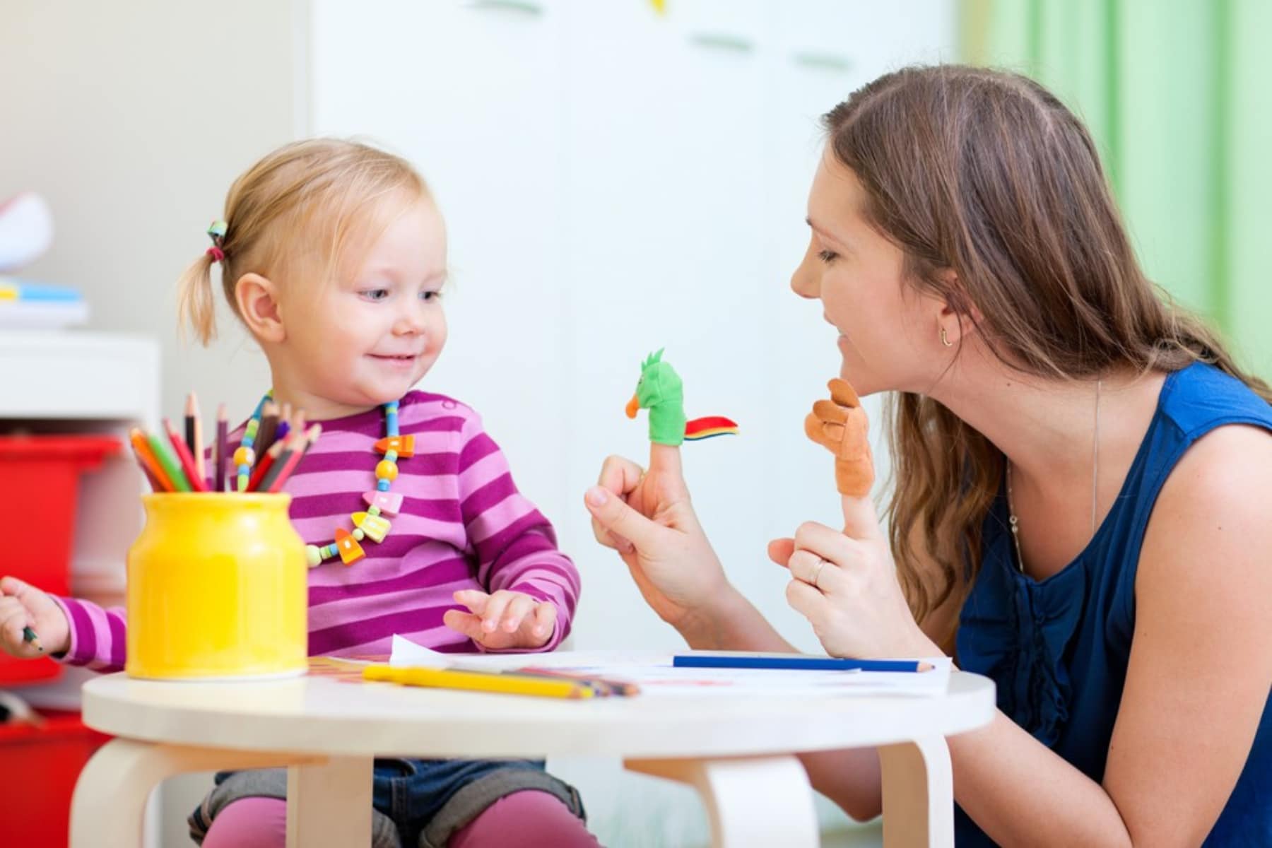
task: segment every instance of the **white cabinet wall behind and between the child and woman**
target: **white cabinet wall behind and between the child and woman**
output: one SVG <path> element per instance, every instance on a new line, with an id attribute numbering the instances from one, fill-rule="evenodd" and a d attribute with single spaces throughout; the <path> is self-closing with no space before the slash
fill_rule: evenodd
<path id="1" fill-rule="evenodd" d="M 667 5 L 314 0 L 312 127 L 379 141 L 430 181 L 457 286 L 424 385 L 483 414 L 556 523 L 583 572 L 575 647 L 681 645 L 580 500 L 607 454 L 647 455 L 644 416 L 622 407 L 641 357 L 667 346 L 688 414 L 742 426 L 684 448 L 702 521 L 731 580 L 812 651 L 764 544 L 837 520 L 829 456 L 801 426 L 837 374 L 834 332 L 787 287 L 817 121 L 884 70 L 950 58 L 953 3 Z M 686 790 L 614 763 L 553 769 L 605 844 L 705 842 Z"/>

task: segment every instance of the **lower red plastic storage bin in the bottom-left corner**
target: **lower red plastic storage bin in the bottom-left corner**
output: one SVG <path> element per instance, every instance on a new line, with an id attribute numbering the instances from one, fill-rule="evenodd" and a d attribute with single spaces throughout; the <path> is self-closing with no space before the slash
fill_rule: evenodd
<path id="1" fill-rule="evenodd" d="M 0 834 L 5 845 L 66 848 L 79 773 L 111 737 L 79 713 L 45 711 L 45 723 L 0 725 Z"/>

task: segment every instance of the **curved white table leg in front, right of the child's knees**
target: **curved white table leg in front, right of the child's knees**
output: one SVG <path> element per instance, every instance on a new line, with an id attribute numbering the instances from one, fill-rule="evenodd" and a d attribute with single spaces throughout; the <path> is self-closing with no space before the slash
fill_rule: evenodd
<path id="1" fill-rule="evenodd" d="M 819 844 L 813 787 L 792 755 L 627 760 L 623 765 L 696 788 L 707 807 L 714 848 Z"/>

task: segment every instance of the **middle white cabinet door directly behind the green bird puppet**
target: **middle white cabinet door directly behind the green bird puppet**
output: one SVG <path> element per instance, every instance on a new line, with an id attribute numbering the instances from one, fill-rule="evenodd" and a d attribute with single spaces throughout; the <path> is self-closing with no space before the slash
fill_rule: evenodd
<path id="1" fill-rule="evenodd" d="M 644 356 L 663 346 L 689 418 L 725 414 L 739 439 L 687 444 L 707 531 L 744 591 L 763 562 L 772 334 L 766 292 L 766 4 L 574 4 L 566 50 L 567 277 L 577 390 L 575 491 L 622 451 L 645 463 L 647 420 L 622 407 Z M 586 516 L 569 516 L 584 538 Z M 597 584 L 580 609 L 589 645 L 647 629 L 635 587 Z M 581 637 L 580 637 L 581 638 Z M 668 636 L 674 639 L 674 634 Z"/>

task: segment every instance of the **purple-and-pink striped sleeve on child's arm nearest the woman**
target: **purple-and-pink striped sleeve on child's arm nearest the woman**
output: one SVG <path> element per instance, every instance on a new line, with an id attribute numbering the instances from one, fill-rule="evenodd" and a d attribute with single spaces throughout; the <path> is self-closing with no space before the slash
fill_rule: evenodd
<path id="1" fill-rule="evenodd" d="M 459 507 L 477 551 L 477 580 L 486 591 L 519 591 L 557 609 L 556 632 L 539 651 L 551 651 L 570 633 L 579 603 L 579 571 L 557 549 L 556 531 L 513 483 L 499 445 L 469 413 L 459 451 Z"/>

